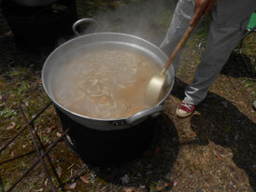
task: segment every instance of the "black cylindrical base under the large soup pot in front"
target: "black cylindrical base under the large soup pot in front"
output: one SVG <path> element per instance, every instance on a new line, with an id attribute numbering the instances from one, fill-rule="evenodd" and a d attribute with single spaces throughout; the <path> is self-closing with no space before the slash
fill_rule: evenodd
<path id="1" fill-rule="evenodd" d="M 57 107 L 63 130 L 71 127 L 65 137 L 68 146 L 85 163 L 109 167 L 139 158 L 149 146 L 156 129 L 148 119 L 126 130 L 92 130 L 64 115 Z"/>

